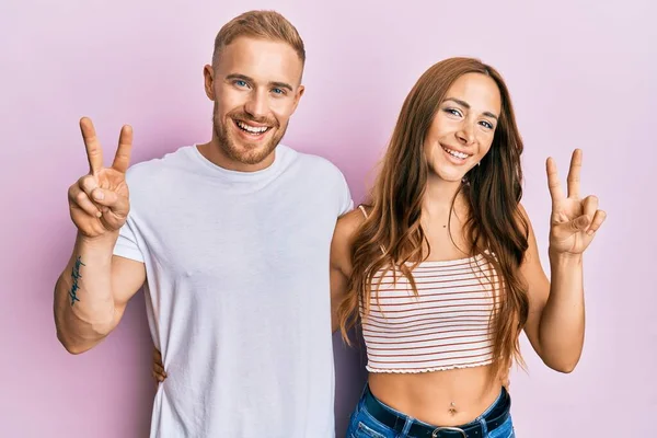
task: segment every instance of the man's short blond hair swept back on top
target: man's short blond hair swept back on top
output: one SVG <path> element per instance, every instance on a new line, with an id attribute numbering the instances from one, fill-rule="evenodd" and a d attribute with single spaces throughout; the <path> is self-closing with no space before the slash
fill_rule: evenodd
<path id="1" fill-rule="evenodd" d="M 275 11 L 249 11 L 226 23 L 217 34 L 215 53 L 212 54 L 214 67 L 217 67 L 221 49 L 239 36 L 287 43 L 297 51 L 301 62 L 306 64 L 303 39 L 301 39 L 292 23 Z"/>

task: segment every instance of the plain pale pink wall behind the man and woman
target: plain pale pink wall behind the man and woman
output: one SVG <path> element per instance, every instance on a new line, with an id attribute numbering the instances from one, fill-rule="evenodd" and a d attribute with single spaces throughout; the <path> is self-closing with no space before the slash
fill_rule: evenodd
<path id="1" fill-rule="evenodd" d="M 0 436 L 147 435 L 154 385 L 141 295 L 88 354 L 68 355 L 55 336 L 53 286 L 74 234 L 66 191 L 87 172 L 78 119 L 95 120 L 107 154 L 130 123 L 135 162 L 207 140 L 201 68 L 219 27 L 254 8 L 286 14 L 307 44 L 307 94 L 285 141 L 333 160 L 357 200 L 410 88 L 449 56 L 480 57 L 508 81 L 526 141 L 525 205 L 546 268 L 544 160 L 554 155 L 565 176 L 570 150 L 584 148 L 583 189 L 609 215 L 586 255 L 585 351 L 575 372 L 558 374 L 523 339 L 516 428 L 522 438 L 655 435 L 657 8 L 527 3 L 3 1 Z M 362 362 L 335 345 L 339 434 Z"/>

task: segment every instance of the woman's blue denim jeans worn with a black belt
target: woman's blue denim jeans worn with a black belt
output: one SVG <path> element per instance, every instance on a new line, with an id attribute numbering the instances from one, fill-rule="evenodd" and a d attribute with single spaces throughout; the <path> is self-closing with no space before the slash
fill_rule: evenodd
<path id="1" fill-rule="evenodd" d="M 378 415 L 383 414 L 388 419 L 397 417 L 396 427 L 392 428 L 381 420 L 377 419 L 372 413 L 368 410 L 368 406 L 376 407 Z M 479 417 L 472 423 L 461 425 L 459 428 L 476 427 L 481 425 L 481 429 L 476 434 L 464 435 L 460 431 L 450 431 L 443 429 L 442 431 L 436 431 L 434 438 L 515 438 L 514 424 L 509 414 L 510 410 L 510 397 L 505 389 L 502 390 L 497 400 L 486 408 Z M 500 424 L 496 424 L 495 428 L 488 430 L 486 424 L 493 417 L 499 418 L 499 415 L 508 414 L 506 419 Z M 431 437 L 430 429 L 435 429 L 437 426 L 423 423 L 418 419 L 402 414 L 399 411 L 383 404 L 369 391 L 369 387 L 366 385 L 362 392 L 362 396 L 356 406 L 356 410 L 351 414 L 349 420 L 349 427 L 347 429 L 346 438 L 416 438 L 417 435 L 412 435 L 413 430 L 419 430 L 425 426 L 424 435 L 422 437 Z M 429 429 L 429 431 L 427 431 Z"/>

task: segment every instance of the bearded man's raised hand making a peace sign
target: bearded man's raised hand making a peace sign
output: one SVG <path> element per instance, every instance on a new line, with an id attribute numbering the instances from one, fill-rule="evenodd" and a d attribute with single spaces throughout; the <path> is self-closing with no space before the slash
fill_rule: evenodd
<path id="1" fill-rule="evenodd" d="M 91 119 L 80 119 L 80 129 L 87 147 L 89 174 L 69 187 L 69 208 L 78 230 L 93 239 L 117 231 L 130 210 L 126 171 L 130 163 L 132 128 L 128 125 L 122 128 L 112 168 L 103 166 L 103 150 Z"/>

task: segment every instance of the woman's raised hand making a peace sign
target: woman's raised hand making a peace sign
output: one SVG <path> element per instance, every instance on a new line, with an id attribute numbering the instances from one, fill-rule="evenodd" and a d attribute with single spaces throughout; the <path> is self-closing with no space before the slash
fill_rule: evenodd
<path id="1" fill-rule="evenodd" d="M 568 171 L 568 195 L 564 195 L 556 172 L 556 163 L 548 159 L 548 185 L 552 197 L 550 220 L 550 250 L 557 254 L 581 254 L 593 240 L 607 214 L 598 209 L 598 198 L 579 197 L 581 150 L 576 149 Z"/>

